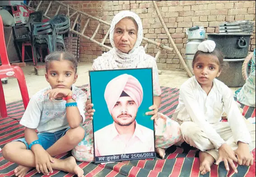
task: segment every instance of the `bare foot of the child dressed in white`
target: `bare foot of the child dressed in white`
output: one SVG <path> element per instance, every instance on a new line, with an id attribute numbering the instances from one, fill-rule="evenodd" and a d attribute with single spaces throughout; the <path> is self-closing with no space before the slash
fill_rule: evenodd
<path id="1" fill-rule="evenodd" d="M 205 175 L 206 173 L 211 171 L 211 166 L 214 163 L 215 159 L 213 156 L 209 155 L 207 152 L 199 152 L 200 159 L 200 172 L 201 175 Z"/>

